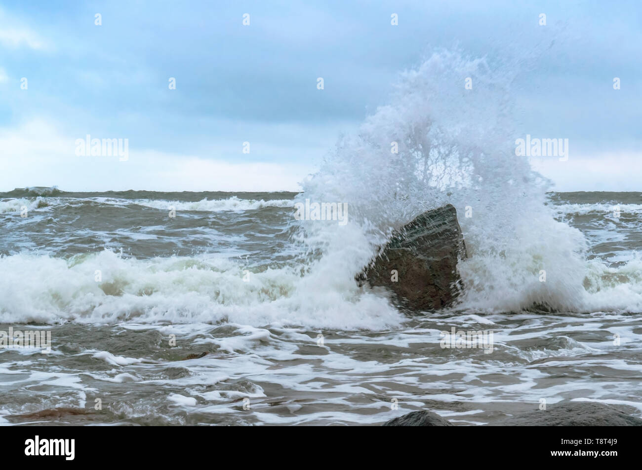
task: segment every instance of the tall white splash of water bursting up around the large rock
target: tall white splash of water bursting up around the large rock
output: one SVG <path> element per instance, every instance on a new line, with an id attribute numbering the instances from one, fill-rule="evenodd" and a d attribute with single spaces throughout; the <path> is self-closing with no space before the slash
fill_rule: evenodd
<path id="1" fill-rule="evenodd" d="M 464 87 L 466 78 L 472 89 Z M 388 105 L 358 135 L 341 138 L 304 181 L 300 197 L 350 207 L 346 227 L 305 226 L 308 245 L 324 252 L 311 276 L 317 285 L 329 273 L 333 283 L 348 283 L 392 230 L 451 203 L 469 249 L 460 263 L 464 306 L 582 304 L 586 240 L 555 221 L 544 205 L 550 182 L 515 155 L 515 78 L 484 58 L 451 51 L 401 75 Z"/>

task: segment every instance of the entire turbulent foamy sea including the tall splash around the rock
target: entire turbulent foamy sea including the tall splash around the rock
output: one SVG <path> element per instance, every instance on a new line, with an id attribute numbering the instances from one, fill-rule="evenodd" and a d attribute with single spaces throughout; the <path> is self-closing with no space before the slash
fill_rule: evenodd
<path id="1" fill-rule="evenodd" d="M 516 156 L 521 65 L 431 56 L 299 194 L 0 194 L 0 332 L 51 333 L 49 353 L 0 349 L 0 419 L 380 424 L 429 408 L 480 424 L 562 399 L 641 415 L 642 194 L 553 193 Z M 345 223 L 299 220 L 319 203 Z M 456 305 L 410 315 L 358 287 L 393 230 L 446 203 L 469 255 Z M 492 331 L 492 353 L 442 348 L 453 328 Z"/>

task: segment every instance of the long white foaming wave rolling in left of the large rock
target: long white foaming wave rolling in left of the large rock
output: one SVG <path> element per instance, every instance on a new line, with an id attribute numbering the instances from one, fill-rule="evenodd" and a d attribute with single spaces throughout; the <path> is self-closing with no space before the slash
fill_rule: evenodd
<path id="1" fill-rule="evenodd" d="M 300 269 L 252 273 L 211 256 L 137 260 L 102 251 L 64 260 L 21 253 L 0 257 L 0 323 L 230 322 L 379 330 L 403 321 L 385 296 L 326 274 L 331 290 L 320 289 Z"/>

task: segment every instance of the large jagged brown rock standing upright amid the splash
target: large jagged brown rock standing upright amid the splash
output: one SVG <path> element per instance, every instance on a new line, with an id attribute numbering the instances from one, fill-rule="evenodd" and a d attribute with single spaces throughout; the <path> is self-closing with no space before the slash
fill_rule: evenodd
<path id="1" fill-rule="evenodd" d="M 357 280 L 388 287 L 413 310 L 435 310 L 450 305 L 459 294 L 457 260 L 465 257 L 457 212 L 446 205 L 424 212 L 394 233 Z"/>

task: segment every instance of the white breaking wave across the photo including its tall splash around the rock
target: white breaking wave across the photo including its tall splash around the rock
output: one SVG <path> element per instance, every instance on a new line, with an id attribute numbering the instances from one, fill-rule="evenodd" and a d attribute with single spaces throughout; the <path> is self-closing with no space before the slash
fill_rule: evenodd
<path id="1" fill-rule="evenodd" d="M 464 88 L 468 77 L 473 90 Z M 435 53 L 401 74 L 388 105 L 368 117 L 356 135 L 340 138 L 294 200 L 125 201 L 205 212 L 288 210 L 304 199 L 348 203 L 344 226 L 288 216 L 291 241 L 305 255 L 290 265 L 246 269 L 223 256 L 135 259 L 111 251 L 68 259 L 1 256 L 0 321 L 389 328 L 405 317 L 385 292 L 358 287 L 354 276 L 393 230 L 447 203 L 457 209 L 469 255 L 459 264 L 465 292 L 456 310 L 514 312 L 536 306 L 639 312 L 640 262 L 609 267 L 598 258 L 587 260 L 586 237 L 556 220 L 560 210 L 546 194 L 550 182 L 531 169 L 526 157 L 515 155 L 515 136 L 523 132 L 514 128 L 514 78 L 485 59 Z M 28 194 L 1 201 L 0 212 L 55 203 L 43 201 L 42 192 L 24 191 Z"/>

